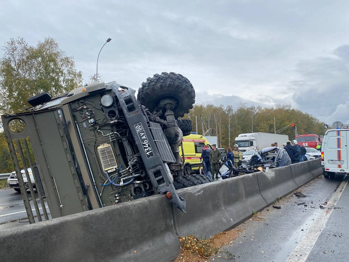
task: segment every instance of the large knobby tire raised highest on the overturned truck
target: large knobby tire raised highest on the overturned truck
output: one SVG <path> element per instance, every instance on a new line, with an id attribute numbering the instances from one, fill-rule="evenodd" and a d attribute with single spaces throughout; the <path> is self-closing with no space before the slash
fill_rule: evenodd
<path id="1" fill-rule="evenodd" d="M 138 89 L 137 100 L 154 112 L 163 99 L 173 99 L 176 105 L 173 108 L 174 117 L 184 116 L 195 103 L 195 91 L 191 82 L 181 74 L 163 72 L 148 77 Z M 164 112 L 163 112 L 164 113 Z M 163 117 L 163 114 L 160 116 Z"/>

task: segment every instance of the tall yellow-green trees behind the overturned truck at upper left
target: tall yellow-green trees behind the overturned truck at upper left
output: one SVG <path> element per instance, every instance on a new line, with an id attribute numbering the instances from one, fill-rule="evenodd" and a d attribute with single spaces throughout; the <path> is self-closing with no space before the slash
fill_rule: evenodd
<path id="1" fill-rule="evenodd" d="M 52 97 L 82 85 L 73 57 L 59 49 L 53 38 L 31 46 L 22 37 L 10 38 L 0 60 L 0 112 L 23 112 L 27 100 L 42 92 Z"/>

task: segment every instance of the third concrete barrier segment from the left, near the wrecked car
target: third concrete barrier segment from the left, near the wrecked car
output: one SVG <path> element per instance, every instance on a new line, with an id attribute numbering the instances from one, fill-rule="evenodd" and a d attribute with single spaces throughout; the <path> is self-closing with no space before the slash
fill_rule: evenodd
<path id="1" fill-rule="evenodd" d="M 257 179 L 260 193 L 268 205 L 298 188 L 292 178 L 290 166 L 269 169 L 265 173 L 258 172 Z"/>

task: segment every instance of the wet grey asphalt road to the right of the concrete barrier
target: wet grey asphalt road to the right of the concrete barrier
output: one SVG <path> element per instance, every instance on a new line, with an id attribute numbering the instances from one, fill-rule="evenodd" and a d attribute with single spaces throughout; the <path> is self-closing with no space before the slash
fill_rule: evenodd
<path id="1" fill-rule="evenodd" d="M 289 195 L 275 204 L 281 209 L 270 206 L 261 211 L 258 218 L 263 220 L 245 221 L 237 227 L 244 231 L 230 245 L 223 246 L 214 261 L 349 261 L 349 185 L 342 190 L 335 206 L 327 205 L 344 177 L 339 175 L 330 180 L 321 175 L 296 190 L 306 197 Z M 297 205 L 299 203 L 303 204 Z M 326 221 L 321 220 L 322 217 Z M 324 226 L 322 231 L 321 225 Z M 309 243 L 308 239 L 317 233 L 320 235 L 316 242 Z M 298 245 L 310 248 L 309 256 L 295 250 Z"/>

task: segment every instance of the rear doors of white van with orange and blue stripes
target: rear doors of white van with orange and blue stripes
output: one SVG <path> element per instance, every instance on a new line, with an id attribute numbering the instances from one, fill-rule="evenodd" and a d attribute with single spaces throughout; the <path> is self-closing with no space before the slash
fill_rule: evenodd
<path id="1" fill-rule="evenodd" d="M 327 168 L 348 168 L 347 131 L 333 130 L 327 133 L 324 164 Z"/>

